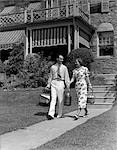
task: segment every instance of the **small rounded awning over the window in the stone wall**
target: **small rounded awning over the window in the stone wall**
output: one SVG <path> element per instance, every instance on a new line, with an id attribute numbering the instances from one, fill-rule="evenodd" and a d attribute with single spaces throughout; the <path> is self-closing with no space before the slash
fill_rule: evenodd
<path id="1" fill-rule="evenodd" d="M 98 26 L 97 32 L 114 31 L 111 23 L 102 23 Z"/>

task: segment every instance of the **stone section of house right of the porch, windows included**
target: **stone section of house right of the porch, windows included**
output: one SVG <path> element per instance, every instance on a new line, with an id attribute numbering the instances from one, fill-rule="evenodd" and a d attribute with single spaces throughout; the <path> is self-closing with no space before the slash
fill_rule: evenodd
<path id="1" fill-rule="evenodd" d="M 89 0 L 90 22 L 96 28 L 90 42 L 98 74 L 117 73 L 117 0 Z"/>

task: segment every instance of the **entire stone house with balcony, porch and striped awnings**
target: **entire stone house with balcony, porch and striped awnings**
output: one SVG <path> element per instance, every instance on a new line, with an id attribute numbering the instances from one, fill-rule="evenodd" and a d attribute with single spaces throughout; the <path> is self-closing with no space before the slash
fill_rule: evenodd
<path id="1" fill-rule="evenodd" d="M 91 48 L 97 73 L 117 72 L 116 0 L 19 0 L 0 13 L 0 51 L 4 60 L 23 42 L 25 56 L 43 51 L 55 58 L 72 49 Z M 21 5 L 22 4 L 22 5 Z"/>

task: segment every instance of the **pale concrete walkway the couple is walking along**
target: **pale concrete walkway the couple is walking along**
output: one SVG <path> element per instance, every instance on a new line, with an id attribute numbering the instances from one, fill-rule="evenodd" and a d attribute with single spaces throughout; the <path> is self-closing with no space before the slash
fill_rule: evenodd
<path id="1" fill-rule="evenodd" d="M 75 111 L 68 113 L 64 118 L 46 120 L 25 129 L 20 129 L 0 136 L 0 150 L 31 150 L 51 141 L 68 130 L 98 116 L 109 108 L 89 108 L 89 116 L 74 121 Z"/>

